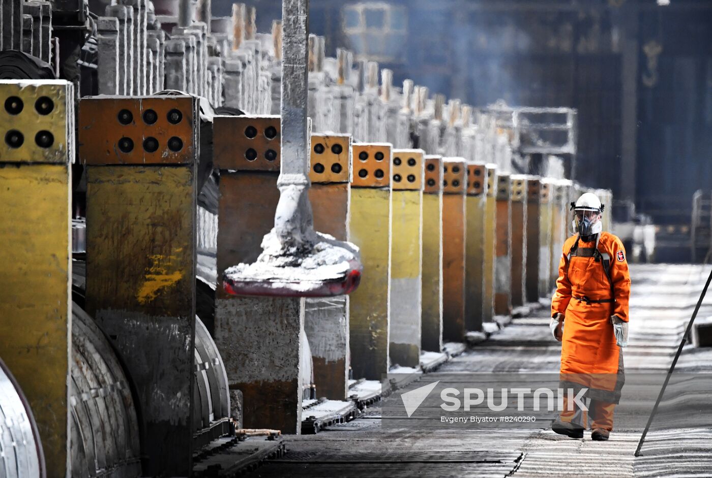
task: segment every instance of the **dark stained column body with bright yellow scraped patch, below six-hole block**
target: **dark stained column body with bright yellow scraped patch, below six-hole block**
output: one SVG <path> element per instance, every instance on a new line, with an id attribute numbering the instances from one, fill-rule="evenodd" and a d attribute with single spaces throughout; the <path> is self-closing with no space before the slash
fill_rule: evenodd
<path id="1" fill-rule="evenodd" d="M 130 372 L 146 436 L 161 437 L 143 447 L 150 475 L 192 467 L 196 196 L 189 166 L 87 167 L 86 310 Z"/>

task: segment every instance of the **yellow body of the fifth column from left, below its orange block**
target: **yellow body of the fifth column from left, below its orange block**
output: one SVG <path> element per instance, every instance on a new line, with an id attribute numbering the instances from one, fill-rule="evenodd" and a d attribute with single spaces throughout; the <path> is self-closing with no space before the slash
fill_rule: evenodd
<path id="1" fill-rule="evenodd" d="M 389 366 L 389 188 L 352 188 L 349 232 L 363 264 L 361 285 L 350 294 L 351 366 L 357 378 L 381 380 Z"/>

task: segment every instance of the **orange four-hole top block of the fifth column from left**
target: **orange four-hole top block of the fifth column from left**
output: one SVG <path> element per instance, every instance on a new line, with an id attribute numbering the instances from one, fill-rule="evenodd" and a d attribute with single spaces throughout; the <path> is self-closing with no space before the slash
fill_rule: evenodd
<path id="1" fill-rule="evenodd" d="M 352 144 L 355 188 L 383 188 L 390 185 L 392 146 L 389 143 Z"/>

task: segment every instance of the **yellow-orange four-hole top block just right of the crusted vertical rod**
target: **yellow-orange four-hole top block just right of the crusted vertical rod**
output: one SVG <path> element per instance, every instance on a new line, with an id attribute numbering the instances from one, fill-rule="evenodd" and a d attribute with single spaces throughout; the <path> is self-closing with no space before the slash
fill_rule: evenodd
<path id="1" fill-rule="evenodd" d="M 350 154 L 350 135 L 312 134 L 309 179 L 313 183 L 350 182 Z"/>

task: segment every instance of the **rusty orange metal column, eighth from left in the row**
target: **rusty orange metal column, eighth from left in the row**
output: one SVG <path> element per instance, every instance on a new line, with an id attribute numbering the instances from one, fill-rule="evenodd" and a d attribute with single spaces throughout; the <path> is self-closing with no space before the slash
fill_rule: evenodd
<path id="1" fill-rule="evenodd" d="M 443 340 L 465 340 L 467 164 L 443 158 Z"/>

